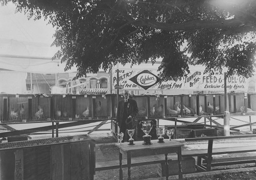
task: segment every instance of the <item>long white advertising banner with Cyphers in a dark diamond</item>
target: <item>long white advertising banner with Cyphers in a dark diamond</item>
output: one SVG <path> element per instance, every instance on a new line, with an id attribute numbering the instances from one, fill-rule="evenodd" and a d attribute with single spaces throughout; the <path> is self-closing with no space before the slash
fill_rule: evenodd
<path id="1" fill-rule="evenodd" d="M 113 71 L 113 86 L 117 87 L 117 70 Z M 187 89 L 197 91 L 220 91 L 224 89 L 224 75 L 216 72 L 214 75 L 203 74 L 203 71 L 190 70 L 181 81 L 166 81 L 159 83 L 159 72 L 154 70 L 119 69 L 119 87 L 130 90 L 152 89 Z M 227 78 L 227 91 L 247 91 L 247 79 L 233 75 Z"/>

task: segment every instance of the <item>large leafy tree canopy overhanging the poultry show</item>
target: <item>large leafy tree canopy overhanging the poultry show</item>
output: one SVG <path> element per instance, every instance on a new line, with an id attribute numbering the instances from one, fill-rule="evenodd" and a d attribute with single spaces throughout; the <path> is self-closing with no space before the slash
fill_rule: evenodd
<path id="1" fill-rule="evenodd" d="M 3 1 L 3 0 L 2 0 Z M 57 27 L 55 58 L 77 76 L 121 64 L 155 62 L 163 80 L 189 64 L 249 77 L 256 48 L 255 0 L 4 0 Z"/>

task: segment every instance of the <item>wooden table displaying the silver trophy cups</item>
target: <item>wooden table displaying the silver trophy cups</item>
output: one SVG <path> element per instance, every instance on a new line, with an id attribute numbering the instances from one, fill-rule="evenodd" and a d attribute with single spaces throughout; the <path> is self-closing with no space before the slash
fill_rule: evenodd
<path id="1" fill-rule="evenodd" d="M 131 158 L 132 157 L 143 157 L 150 155 L 165 155 L 165 165 L 166 165 L 166 179 L 168 179 L 168 153 L 177 153 L 179 161 L 179 179 L 182 179 L 181 170 L 181 146 L 182 143 L 177 141 L 164 140 L 164 143 L 158 143 L 158 140 L 151 140 L 152 145 L 143 145 L 143 141 L 135 141 L 135 145 L 128 145 L 127 142 L 122 144 L 116 143 L 115 145 L 119 147 L 119 179 L 123 179 L 122 170 L 122 156 L 127 156 L 127 166 L 128 166 L 128 179 L 131 179 Z M 146 157 L 145 157 L 146 158 Z"/>

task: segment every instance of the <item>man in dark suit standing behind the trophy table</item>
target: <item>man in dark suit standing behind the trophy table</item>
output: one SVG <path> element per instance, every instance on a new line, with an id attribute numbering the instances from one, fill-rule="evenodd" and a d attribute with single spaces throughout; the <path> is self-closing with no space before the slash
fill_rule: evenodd
<path id="1" fill-rule="evenodd" d="M 130 98 L 128 90 L 124 90 L 124 99 L 118 102 L 117 107 L 117 125 L 120 127 L 120 133 L 124 134 L 123 141 L 130 138 L 127 135 L 126 130 L 132 130 L 135 128 L 135 117 L 139 112 L 136 100 Z"/>

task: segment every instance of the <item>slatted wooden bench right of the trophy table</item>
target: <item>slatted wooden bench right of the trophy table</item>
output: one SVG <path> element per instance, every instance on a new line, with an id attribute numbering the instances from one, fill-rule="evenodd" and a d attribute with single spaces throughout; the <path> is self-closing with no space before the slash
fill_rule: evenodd
<path id="1" fill-rule="evenodd" d="M 238 146 L 237 147 L 221 147 L 212 148 L 214 140 L 221 139 L 241 139 L 241 138 L 254 138 L 256 134 L 253 135 L 239 135 L 239 136 L 217 136 L 217 137 L 199 137 L 199 138 L 186 138 L 185 141 L 208 141 L 207 149 L 191 149 L 183 150 L 182 157 L 197 157 L 197 168 L 202 171 L 211 171 L 212 166 L 225 166 L 234 164 L 247 164 L 255 163 L 255 159 L 238 160 L 238 161 L 227 161 L 227 162 L 216 162 L 212 163 L 212 155 L 223 155 L 226 153 L 243 153 L 243 152 L 254 152 L 256 151 L 256 144 L 250 146 Z M 205 160 L 206 164 L 202 163 Z"/>

